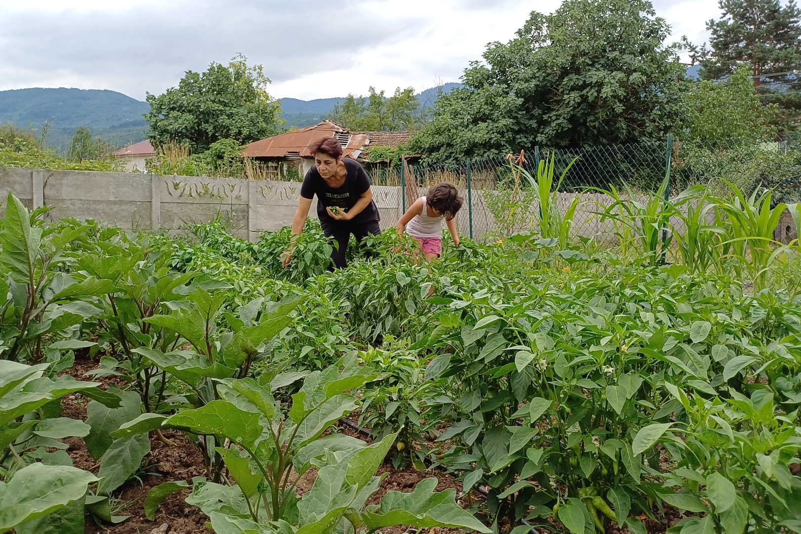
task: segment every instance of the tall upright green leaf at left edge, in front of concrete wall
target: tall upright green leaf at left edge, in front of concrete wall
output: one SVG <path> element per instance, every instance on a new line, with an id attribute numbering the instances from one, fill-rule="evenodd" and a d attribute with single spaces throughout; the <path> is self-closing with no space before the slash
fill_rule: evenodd
<path id="1" fill-rule="evenodd" d="M 0 233 L 0 263 L 17 283 L 30 283 L 42 242 L 42 228 L 30 227 L 28 211 L 11 191 Z"/>

